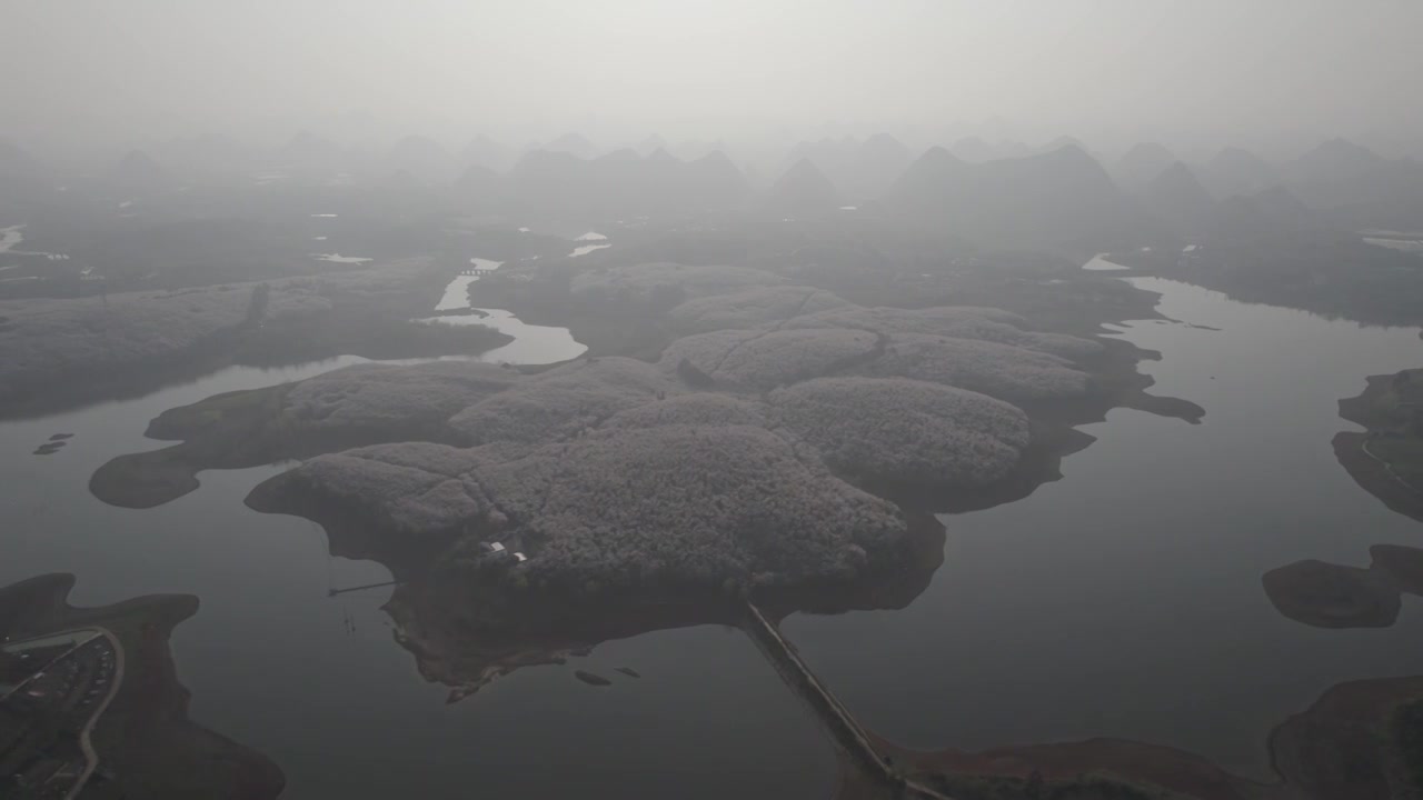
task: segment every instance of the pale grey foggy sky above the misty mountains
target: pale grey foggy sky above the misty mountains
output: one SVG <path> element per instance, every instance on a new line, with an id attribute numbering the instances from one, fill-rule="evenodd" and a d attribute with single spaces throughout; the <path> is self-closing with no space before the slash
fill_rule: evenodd
<path id="1" fill-rule="evenodd" d="M 0 132 L 1423 142 L 1417 0 L 0 0 Z"/>

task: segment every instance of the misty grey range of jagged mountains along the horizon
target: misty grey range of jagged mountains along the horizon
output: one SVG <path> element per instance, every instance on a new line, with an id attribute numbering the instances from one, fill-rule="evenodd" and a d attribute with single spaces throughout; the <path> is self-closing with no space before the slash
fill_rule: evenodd
<path id="1" fill-rule="evenodd" d="M 1225 148 L 1188 164 L 1154 142 L 1104 162 L 1069 137 L 1049 145 L 1035 151 L 973 138 L 915 157 L 889 134 L 825 138 L 793 147 L 763 178 L 721 149 L 690 159 L 672 155 L 660 137 L 599 154 L 578 134 L 522 152 L 484 135 L 460 151 L 410 135 L 384 152 L 360 152 L 300 132 L 266 158 L 221 137 L 176 140 L 155 154 L 131 151 L 81 181 L 115 196 L 145 196 L 258 171 L 313 182 L 342 175 L 388 189 L 448 191 L 474 211 L 573 216 L 811 216 L 855 206 L 985 246 L 1072 251 L 1163 235 L 1212 241 L 1315 225 L 1423 228 L 1423 165 L 1346 140 L 1326 141 L 1288 162 Z M 0 144 L 4 202 L 43 194 L 53 172 L 17 145 Z"/>

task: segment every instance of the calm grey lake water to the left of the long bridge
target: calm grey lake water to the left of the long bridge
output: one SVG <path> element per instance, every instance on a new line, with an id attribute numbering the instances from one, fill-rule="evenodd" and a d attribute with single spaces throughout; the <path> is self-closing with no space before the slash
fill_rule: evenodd
<path id="1" fill-rule="evenodd" d="M 527 347 L 531 363 L 566 357 L 558 346 Z M 0 423 L 0 585 L 74 572 L 80 605 L 198 595 L 198 615 L 172 641 L 192 717 L 275 759 L 286 797 L 467 799 L 471 787 L 481 797 L 558 797 L 571 786 L 589 797 L 831 793 L 830 740 L 740 631 L 608 642 L 445 705 L 447 689 L 420 678 L 391 638 L 380 611 L 390 589 L 326 595 L 386 581 L 383 567 L 329 558 L 319 527 L 243 505 L 283 467 L 208 471 L 198 491 L 149 511 L 87 491 L 108 458 L 164 446 L 142 431 L 165 409 L 361 360 L 228 369 L 139 400 Z M 53 456 L 30 454 L 54 433 L 74 438 Z M 588 686 L 576 669 L 612 685 Z"/>

